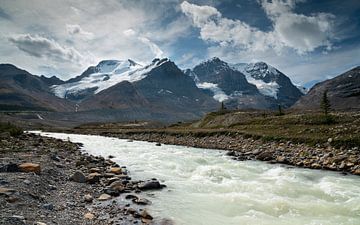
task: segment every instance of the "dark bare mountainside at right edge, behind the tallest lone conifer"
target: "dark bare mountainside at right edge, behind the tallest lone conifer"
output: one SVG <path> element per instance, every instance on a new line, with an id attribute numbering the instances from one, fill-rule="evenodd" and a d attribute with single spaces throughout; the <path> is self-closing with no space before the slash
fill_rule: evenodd
<path id="1" fill-rule="evenodd" d="M 316 84 L 293 108 L 320 109 L 321 98 L 325 90 L 331 108 L 340 110 L 360 109 L 360 66 Z"/>

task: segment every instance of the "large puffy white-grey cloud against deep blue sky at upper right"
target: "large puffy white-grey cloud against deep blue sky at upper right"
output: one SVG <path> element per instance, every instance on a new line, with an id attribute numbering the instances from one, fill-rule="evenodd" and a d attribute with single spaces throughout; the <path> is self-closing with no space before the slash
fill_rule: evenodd
<path id="1" fill-rule="evenodd" d="M 296 0 L 261 0 L 260 4 L 272 21 L 271 31 L 261 31 L 240 20 L 224 18 L 211 6 L 199 6 L 184 1 L 182 12 L 200 28 L 203 40 L 218 43 L 222 47 L 233 46 L 247 51 L 265 51 L 269 48 L 278 53 L 291 48 L 298 53 L 311 52 L 318 47 L 331 48 L 332 20 L 334 16 L 317 13 L 310 16 L 296 14 Z"/>

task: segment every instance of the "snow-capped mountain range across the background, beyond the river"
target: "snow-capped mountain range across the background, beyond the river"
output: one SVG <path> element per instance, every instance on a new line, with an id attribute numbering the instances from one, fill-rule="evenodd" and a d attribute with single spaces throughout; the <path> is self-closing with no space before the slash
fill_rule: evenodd
<path id="1" fill-rule="evenodd" d="M 359 77 L 356 70 L 351 76 Z M 193 120 L 217 110 L 221 102 L 230 109 L 275 109 L 301 98 L 294 107 L 305 108 L 307 96 L 321 84 L 305 95 L 304 88 L 265 62 L 229 64 L 216 57 L 183 71 L 167 58 L 148 65 L 104 60 L 67 81 L 0 64 L 0 77 L 2 110 L 47 111 L 52 112 L 47 119 L 79 122 Z M 350 97 L 358 99 L 358 86 L 353 86 Z"/>

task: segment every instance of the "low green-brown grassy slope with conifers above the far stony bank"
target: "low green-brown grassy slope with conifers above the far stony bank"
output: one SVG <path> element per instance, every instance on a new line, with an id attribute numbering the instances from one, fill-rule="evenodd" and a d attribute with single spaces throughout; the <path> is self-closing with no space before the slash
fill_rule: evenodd
<path id="1" fill-rule="evenodd" d="M 327 123 L 320 113 L 276 116 L 268 112 L 215 112 L 194 124 L 196 128 L 236 130 L 264 140 L 295 141 L 315 145 L 331 138 L 335 147 L 360 146 L 360 112 L 333 113 Z"/>

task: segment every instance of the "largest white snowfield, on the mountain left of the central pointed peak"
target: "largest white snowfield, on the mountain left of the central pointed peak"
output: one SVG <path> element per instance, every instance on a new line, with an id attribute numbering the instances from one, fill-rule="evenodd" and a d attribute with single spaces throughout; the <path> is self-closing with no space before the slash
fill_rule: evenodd
<path id="1" fill-rule="evenodd" d="M 152 69 L 167 61 L 168 59 L 155 59 L 150 65 L 142 66 L 130 59 L 125 61 L 104 60 L 96 66 L 96 73 L 92 73 L 78 82 L 54 85 L 52 91 L 60 98 L 87 90 L 92 90 L 97 94 L 122 81 L 139 81 L 145 78 Z"/>

